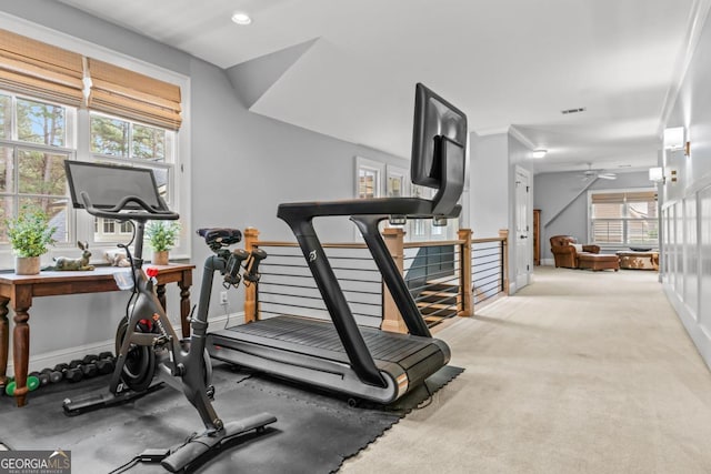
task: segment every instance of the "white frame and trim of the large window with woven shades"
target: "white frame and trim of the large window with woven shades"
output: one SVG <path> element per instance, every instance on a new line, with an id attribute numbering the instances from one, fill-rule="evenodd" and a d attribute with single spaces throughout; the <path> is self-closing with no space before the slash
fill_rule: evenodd
<path id="1" fill-rule="evenodd" d="M 110 62 L 117 67 L 126 68 L 141 74 L 159 79 L 166 82 L 173 83 L 180 87 L 181 90 L 181 108 L 182 108 L 182 124 L 180 130 L 174 132 L 174 161 L 173 161 L 173 173 L 171 180 L 174 181 L 171 183 L 171 209 L 176 210 L 180 214 L 180 223 L 181 223 L 181 233 L 179 238 L 179 246 L 171 251 L 171 260 L 184 260 L 190 259 L 191 256 L 191 180 L 190 180 L 190 170 L 191 170 L 191 155 L 190 155 L 190 77 L 184 75 L 182 73 L 171 71 L 164 68 L 161 68 L 156 64 L 151 64 L 144 62 L 142 60 L 126 56 L 123 53 L 110 50 L 108 48 L 103 48 L 91 43 L 89 41 L 81 40 L 76 37 L 71 37 L 69 34 L 51 30 L 44 27 L 37 26 L 34 23 L 19 20 L 17 17 L 12 17 L 8 13 L 0 12 L 0 28 L 3 28 L 8 31 L 23 34 L 26 37 L 30 37 L 38 41 L 42 41 L 59 48 L 67 49 L 69 51 L 82 54 L 84 57 L 96 58 L 101 61 Z M 22 95 L 16 94 L 13 95 Z M 22 95 L 26 97 L 26 95 Z M 30 100 L 37 100 L 40 102 L 52 103 L 51 101 L 47 101 L 40 98 L 28 97 Z M 61 104 L 66 105 L 66 104 Z M 67 105 L 71 107 L 71 105 Z M 73 159 L 79 161 L 93 161 L 92 152 L 91 152 L 91 139 L 90 139 L 90 119 L 89 119 L 89 110 L 81 108 L 76 109 L 76 121 L 74 128 L 70 129 L 71 125 L 68 123 L 68 134 L 71 133 L 73 138 L 74 149 Z M 129 120 L 132 122 L 138 122 L 136 120 L 129 118 L 122 118 L 123 120 Z M 150 125 L 154 127 L 154 125 Z M 33 145 L 29 143 L 30 145 Z M 60 151 L 60 149 L 57 149 Z M 64 152 L 66 149 L 61 149 L 61 152 Z M 114 162 L 126 162 L 127 160 L 112 160 Z M 128 163 L 127 163 L 128 164 Z M 136 163 L 130 163 L 136 164 Z M 138 162 L 140 165 L 140 161 Z M 148 163 L 147 163 L 148 164 Z M 153 167 L 153 164 L 151 164 Z M 68 196 L 69 199 L 69 196 Z M 70 208 L 71 209 L 71 208 Z M 77 212 L 79 211 L 79 212 Z M 52 256 L 67 254 L 68 251 L 72 251 L 76 249 L 77 240 L 86 240 L 90 243 L 90 249 L 92 250 L 92 261 L 97 263 L 103 263 L 103 252 L 106 250 L 116 249 L 114 243 L 110 242 L 93 242 L 93 229 L 94 221 L 93 216 L 89 215 L 86 211 L 82 210 L 72 210 L 69 213 L 68 225 L 69 225 L 69 234 L 70 241 L 66 244 L 56 244 L 50 249 L 50 252 L 43 256 L 48 259 L 48 263 L 51 261 Z M 73 238 L 71 236 L 73 235 Z M 149 259 L 150 254 L 148 253 L 149 248 L 147 248 L 147 252 L 144 252 L 144 258 Z M 13 255 L 10 245 L 0 244 L 0 269 L 11 269 L 13 265 Z"/>

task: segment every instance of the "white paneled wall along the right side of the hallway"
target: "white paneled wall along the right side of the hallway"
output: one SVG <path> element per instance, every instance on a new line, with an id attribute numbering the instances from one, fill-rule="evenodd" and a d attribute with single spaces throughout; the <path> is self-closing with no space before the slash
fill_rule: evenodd
<path id="1" fill-rule="evenodd" d="M 669 300 L 711 365 L 711 26 L 699 43 L 665 127 L 683 125 L 691 154 L 668 152 L 662 202 L 662 283 Z"/>

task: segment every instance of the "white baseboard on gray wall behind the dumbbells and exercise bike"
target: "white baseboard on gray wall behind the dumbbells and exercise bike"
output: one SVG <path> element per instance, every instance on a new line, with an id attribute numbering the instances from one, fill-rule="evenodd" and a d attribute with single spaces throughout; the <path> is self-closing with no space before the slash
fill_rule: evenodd
<path id="1" fill-rule="evenodd" d="M 208 332 L 217 331 L 227 327 L 228 325 L 233 326 L 237 324 L 244 323 L 244 312 L 241 311 L 239 313 L 230 313 L 230 314 L 221 314 L 218 316 L 210 317 L 209 320 L 209 329 Z M 176 327 L 179 330 L 179 327 Z M 58 351 L 44 352 L 42 354 L 36 354 L 30 356 L 30 363 L 28 366 L 28 373 L 33 371 L 41 371 L 44 367 L 53 367 L 57 364 L 69 363 L 74 359 L 83 359 L 87 354 L 99 354 L 101 352 L 111 353 L 116 352 L 114 341 L 107 340 L 100 341 L 92 344 L 83 344 L 73 347 L 60 349 Z M 14 367 L 12 363 L 8 363 L 8 376 L 12 376 L 14 374 Z"/>

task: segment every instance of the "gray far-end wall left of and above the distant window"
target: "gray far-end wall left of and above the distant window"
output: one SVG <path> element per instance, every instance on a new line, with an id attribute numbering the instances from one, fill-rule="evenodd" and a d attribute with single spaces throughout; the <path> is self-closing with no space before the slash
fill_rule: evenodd
<path id="1" fill-rule="evenodd" d="M 589 184 L 580 174 L 579 171 L 541 173 L 534 178 L 533 206 L 541 210 L 541 260 L 545 261 L 542 263 L 552 264 L 549 239 L 553 235 L 572 235 L 581 243 L 588 241 L 588 190 L 653 186 L 647 171 L 637 171 L 618 173 L 617 180 L 599 179 L 578 195 Z"/>

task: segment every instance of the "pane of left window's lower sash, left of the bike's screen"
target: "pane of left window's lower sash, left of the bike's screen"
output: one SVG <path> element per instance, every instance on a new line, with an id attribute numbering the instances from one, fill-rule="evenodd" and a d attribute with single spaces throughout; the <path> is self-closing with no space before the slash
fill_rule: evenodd
<path id="1" fill-rule="evenodd" d="M 19 150 L 19 192 L 26 194 L 67 194 L 66 154 Z"/>

